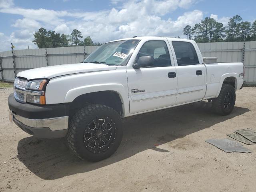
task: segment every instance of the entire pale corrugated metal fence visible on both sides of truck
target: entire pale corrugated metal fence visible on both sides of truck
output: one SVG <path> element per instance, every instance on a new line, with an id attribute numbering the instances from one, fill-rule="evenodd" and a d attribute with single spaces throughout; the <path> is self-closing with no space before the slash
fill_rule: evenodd
<path id="1" fill-rule="evenodd" d="M 244 80 L 247 84 L 256 84 L 255 41 L 198 43 L 198 46 L 203 57 L 217 57 L 218 62 L 244 62 Z M 14 56 L 12 51 L 0 52 L 0 79 L 13 82 L 15 74 L 23 70 L 79 63 L 96 48 L 98 46 L 14 50 Z"/>

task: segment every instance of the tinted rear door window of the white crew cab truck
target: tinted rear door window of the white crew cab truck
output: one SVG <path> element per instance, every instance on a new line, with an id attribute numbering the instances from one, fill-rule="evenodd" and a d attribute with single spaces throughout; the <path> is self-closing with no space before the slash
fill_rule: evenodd
<path id="1" fill-rule="evenodd" d="M 172 46 L 174 48 L 178 66 L 199 64 L 196 50 L 191 43 L 173 41 Z"/>

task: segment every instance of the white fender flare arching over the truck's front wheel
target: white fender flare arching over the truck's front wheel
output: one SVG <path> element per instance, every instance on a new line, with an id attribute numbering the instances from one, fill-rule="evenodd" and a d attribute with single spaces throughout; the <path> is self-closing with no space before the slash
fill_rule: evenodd
<path id="1" fill-rule="evenodd" d="M 128 99 L 128 92 L 127 92 L 128 90 L 126 90 L 122 84 L 106 83 L 106 84 L 92 84 L 92 85 L 76 87 L 69 90 L 66 93 L 64 102 L 66 103 L 73 102 L 74 99 L 80 95 L 93 93 L 93 92 L 100 92 L 100 91 L 116 92 L 122 102 L 123 116 L 125 116 L 126 114 L 129 114 L 129 99 Z M 126 95 L 127 97 L 125 97 Z"/>

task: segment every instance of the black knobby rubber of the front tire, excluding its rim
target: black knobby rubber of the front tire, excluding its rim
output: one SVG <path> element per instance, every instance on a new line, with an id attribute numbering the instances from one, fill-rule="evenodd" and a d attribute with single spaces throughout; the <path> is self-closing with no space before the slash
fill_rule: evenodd
<path id="1" fill-rule="evenodd" d="M 85 144 L 86 140 L 84 137 L 84 133 L 86 128 L 88 129 L 88 125 L 90 124 L 90 122 L 94 121 L 94 119 L 98 117 L 108 118 L 108 120 L 111 119 L 111 123 L 115 132 L 114 138 L 112 142 L 108 145 L 108 147 L 104 151 L 96 151 L 95 153 L 95 151 L 90 151 L 90 147 L 88 148 L 88 146 Z M 94 125 L 96 124 L 94 123 Z M 122 136 L 123 128 L 121 118 L 118 112 L 116 112 L 113 108 L 102 104 L 89 104 L 81 108 L 74 114 L 74 116 L 70 120 L 66 138 L 69 148 L 78 158 L 82 160 L 96 162 L 111 156 L 119 147 Z"/>

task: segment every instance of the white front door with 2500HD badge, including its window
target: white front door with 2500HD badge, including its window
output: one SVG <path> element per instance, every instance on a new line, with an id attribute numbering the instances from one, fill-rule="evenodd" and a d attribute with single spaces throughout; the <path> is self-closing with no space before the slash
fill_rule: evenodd
<path id="1" fill-rule="evenodd" d="M 146 41 L 138 52 L 152 56 L 154 65 L 146 68 L 127 68 L 130 114 L 172 106 L 177 97 L 177 76 L 167 40 Z"/>

